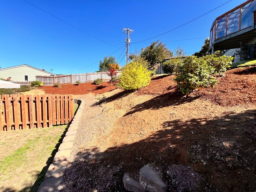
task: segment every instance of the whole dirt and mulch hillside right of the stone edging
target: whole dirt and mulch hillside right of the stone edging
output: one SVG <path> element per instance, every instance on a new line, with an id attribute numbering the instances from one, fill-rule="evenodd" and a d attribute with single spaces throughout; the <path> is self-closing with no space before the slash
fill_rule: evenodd
<path id="1" fill-rule="evenodd" d="M 63 191 L 125 191 L 123 175 L 138 179 L 147 163 L 163 170 L 174 191 L 177 181 L 167 174 L 173 164 L 204 178 L 187 191 L 256 190 L 255 68 L 230 70 L 215 88 L 189 97 L 172 79 L 153 78 L 135 92 L 105 92 L 101 105 L 95 98 L 102 94 L 84 96 Z"/>

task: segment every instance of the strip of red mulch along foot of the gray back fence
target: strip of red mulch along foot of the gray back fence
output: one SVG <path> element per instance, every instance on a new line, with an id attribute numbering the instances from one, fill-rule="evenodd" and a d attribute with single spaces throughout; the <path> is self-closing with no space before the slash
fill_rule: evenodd
<path id="1" fill-rule="evenodd" d="M 79 85 L 72 85 L 72 84 L 61 85 L 61 88 L 53 87 L 53 86 L 43 86 L 43 87 L 39 87 L 39 89 L 43 89 L 46 94 L 80 95 L 80 94 L 88 94 L 88 93 L 102 94 L 104 92 L 117 89 L 117 87 L 115 87 L 115 83 L 111 85 L 111 82 L 102 82 L 101 85 L 95 85 L 92 82 L 92 83 L 80 83 Z"/>

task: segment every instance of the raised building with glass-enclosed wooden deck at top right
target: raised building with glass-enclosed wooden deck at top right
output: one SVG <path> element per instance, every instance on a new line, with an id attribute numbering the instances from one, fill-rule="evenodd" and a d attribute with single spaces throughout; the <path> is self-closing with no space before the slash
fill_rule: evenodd
<path id="1" fill-rule="evenodd" d="M 234 56 L 245 46 L 248 47 L 247 59 L 255 58 L 256 0 L 247 0 L 217 17 L 210 30 L 210 54 L 223 51 L 225 55 Z"/>

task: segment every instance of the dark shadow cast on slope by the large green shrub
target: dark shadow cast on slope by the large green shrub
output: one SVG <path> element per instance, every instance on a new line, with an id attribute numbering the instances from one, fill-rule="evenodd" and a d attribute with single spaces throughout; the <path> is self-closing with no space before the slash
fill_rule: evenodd
<path id="1" fill-rule="evenodd" d="M 170 90 L 170 89 L 174 89 L 174 86 L 170 86 L 169 88 L 167 88 L 167 90 Z M 161 94 L 146 102 L 135 105 L 134 107 L 132 107 L 132 109 L 128 113 L 124 114 L 124 116 L 133 114 L 139 111 L 144 111 L 147 109 L 157 110 L 157 109 L 168 107 L 171 105 L 181 105 L 182 103 L 190 103 L 197 98 L 199 98 L 199 96 L 186 97 L 181 92 L 179 92 L 178 88 L 176 88 L 171 92 Z"/>

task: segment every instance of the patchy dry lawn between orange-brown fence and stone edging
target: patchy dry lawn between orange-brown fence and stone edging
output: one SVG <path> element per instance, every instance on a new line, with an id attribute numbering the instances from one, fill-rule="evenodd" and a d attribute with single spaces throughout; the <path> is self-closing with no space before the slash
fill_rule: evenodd
<path id="1" fill-rule="evenodd" d="M 36 192 L 67 125 L 0 133 L 0 191 Z"/>

